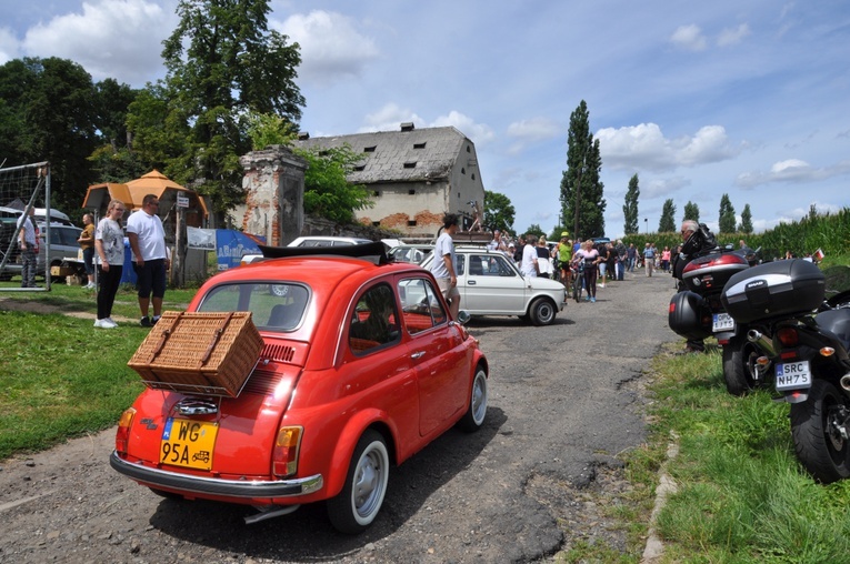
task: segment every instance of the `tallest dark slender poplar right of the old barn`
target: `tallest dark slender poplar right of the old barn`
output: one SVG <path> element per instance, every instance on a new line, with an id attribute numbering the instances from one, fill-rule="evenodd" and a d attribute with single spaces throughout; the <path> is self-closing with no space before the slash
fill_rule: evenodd
<path id="1" fill-rule="evenodd" d="M 604 184 L 599 180 L 602 158 L 599 140 L 590 132 L 584 100 L 570 114 L 567 134 L 567 170 L 561 178 L 561 214 L 573 220 L 572 236 L 589 239 L 604 235 Z M 578 213 L 577 213 L 578 210 Z"/>

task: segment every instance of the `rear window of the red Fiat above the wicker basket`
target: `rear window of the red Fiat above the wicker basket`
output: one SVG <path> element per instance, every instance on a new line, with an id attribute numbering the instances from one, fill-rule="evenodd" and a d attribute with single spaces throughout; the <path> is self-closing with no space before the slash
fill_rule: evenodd
<path id="1" fill-rule="evenodd" d="M 249 311 L 258 329 L 287 332 L 301 324 L 309 298 L 310 291 L 302 284 L 222 284 L 203 296 L 198 311 Z"/>

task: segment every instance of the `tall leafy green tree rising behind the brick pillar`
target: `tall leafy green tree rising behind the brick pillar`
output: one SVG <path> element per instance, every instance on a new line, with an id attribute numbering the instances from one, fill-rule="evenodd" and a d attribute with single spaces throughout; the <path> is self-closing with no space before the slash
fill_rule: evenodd
<path id="1" fill-rule="evenodd" d="M 244 200 L 239 157 L 250 149 L 248 117 L 297 122 L 304 105 L 294 82 L 298 44 L 269 30 L 269 12 L 268 0 L 180 0 L 180 22 L 163 42 L 166 79 L 132 110 L 141 113 L 137 127 L 164 129 L 133 130 L 144 159 L 164 159 L 166 174 L 212 197 L 219 214 Z M 164 111 L 151 114 L 156 107 Z M 174 137 L 182 142 L 169 145 Z"/>

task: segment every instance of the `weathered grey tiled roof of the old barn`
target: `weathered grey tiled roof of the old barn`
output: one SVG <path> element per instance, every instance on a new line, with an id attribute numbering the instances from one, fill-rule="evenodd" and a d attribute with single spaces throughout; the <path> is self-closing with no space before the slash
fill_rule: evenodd
<path id="1" fill-rule="evenodd" d="M 461 152 L 464 141 L 463 133 L 449 127 L 312 138 L 298 140 L 296 145 L 338 148 L 348 144 L 363 155 L 360 167 L 348 180 L 370 184 L 447 179 L 457 159 L 466 155 Z M 474 153 L 469 154 L 469 159 L 473 157 Z"/>

